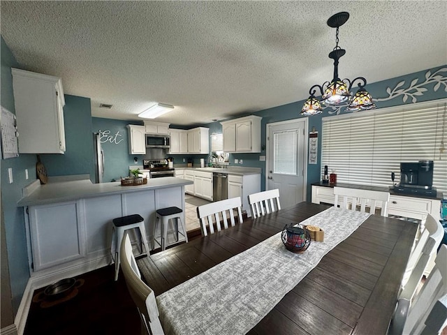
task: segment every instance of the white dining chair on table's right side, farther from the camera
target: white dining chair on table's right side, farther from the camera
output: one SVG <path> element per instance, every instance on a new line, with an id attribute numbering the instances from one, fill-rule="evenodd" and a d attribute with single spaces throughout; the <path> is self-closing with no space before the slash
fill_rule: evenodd
<path id="1" fill-rule="evenodd" d="M 434 242 L 430 243 L 430 245 L 427 245 L 429 237 L 432 237 Z M 420 234 L 416 246 L 413 248 L 413 251 L 411 251 L 409 260 L 406 263 L 404 277 L 402 278 L 402 288 L 404 288 L 406 286 L 406 283 L 409 281 L 410 276 L 412 275 L 416 265 L 418 264 L 419 258 L 423 254 L 423 249 L 425 248 L 427 249 L 426 252 L 429 254 L 428 255 L 429 259 L 423 266 L 422 273 L 420 274 L 420 276 L 422 277 L 423 273 L 425 272 L 425 269 L 427 268 L 427 265 L 430 262 L 430 259 L 434 259 L 436 255 L 436 250 L 439 244 L 441 244 L 441 240 L 443 237 L 444 237 L 444 228 L 442 227 L 441 223 L 437 221 L 437 219 L 434 218 L 434 216 L 428 214 L 427 219 L 425 221 L 425 228 L 422 234 Z M 413 276 L 415 275 L 413 274 Z"/>

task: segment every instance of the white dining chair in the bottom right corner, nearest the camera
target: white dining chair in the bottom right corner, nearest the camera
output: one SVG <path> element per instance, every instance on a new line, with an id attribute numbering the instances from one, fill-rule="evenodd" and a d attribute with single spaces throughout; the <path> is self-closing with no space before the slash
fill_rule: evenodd
<path id="1" fill-rule="evenodd" d="M 413 299 L 409 299 L 409 297 L 400 297 L 397 300 L 393 320 L 391 320 L 388 329 L 389 335 L 439 334 L 441 332 L 443 325 L 446 324 L 446 313 L 441 315 L 440 320 L 437 320 L 438 326 L 436 327 L 440 328 L 437 332 L 430 332 L 430 327 L 434 327 L 434 325 L 428 325 L 428 327 L 426 327 L 426 324 L 430 322 L 434 315 L 438 315 L 439 313 L 443 313 L 442 311 L 445 311 L 445 308 L 443 308 L 442 305 L 445 306 L 446 301 L 444 296 L 447 295 L 446 260 L 447 246 L 446 244 L 442 244 L 435 260 L 435 266 L 425 283 L 423 283 L 419 292 Z M 438 301 L 441 306 L 438 304 Z"/>

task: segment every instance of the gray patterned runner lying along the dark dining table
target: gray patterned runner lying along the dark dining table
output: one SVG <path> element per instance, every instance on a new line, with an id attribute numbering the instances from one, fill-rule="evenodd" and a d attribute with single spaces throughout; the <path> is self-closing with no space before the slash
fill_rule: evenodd
<path id="1" fill-rule="evenodd" d="M 324 230 L 304 253 L 286 250 L 279 232 L 164 292 L 156 301 L 165 333 L 247 333 L 369 215 L 330 207 L 302 222 Z"/>

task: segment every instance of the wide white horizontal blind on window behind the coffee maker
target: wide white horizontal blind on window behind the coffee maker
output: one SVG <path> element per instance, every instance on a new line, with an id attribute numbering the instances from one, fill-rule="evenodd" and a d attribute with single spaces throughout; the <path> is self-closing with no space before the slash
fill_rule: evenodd
<path id="1" fill-rule="evenodd" d="M 390 186 L 401 162 L 430 160 L 433 186 L 447 193 L 446 119 L 445 99 L 324 117 L 321 173 L 328 165 L 337 182 Z"/>

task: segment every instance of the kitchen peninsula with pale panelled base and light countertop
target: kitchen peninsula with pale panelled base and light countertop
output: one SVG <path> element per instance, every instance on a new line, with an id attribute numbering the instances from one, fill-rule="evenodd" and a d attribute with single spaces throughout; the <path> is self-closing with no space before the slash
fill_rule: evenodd
<path id="1" fill-rule="evenodd" d="M 138 186 L 60 180 L 55 177 L 45 185 L 34 181 L 17 202 L 24 207 L 29 269 L 36 287 L 108 265 L 113 218 L 140 214 L 152 248 L 156 209 L 179 207 L 184 220 L 184 186 L 191 184 L 175 177 L 149 179 Z"/>

